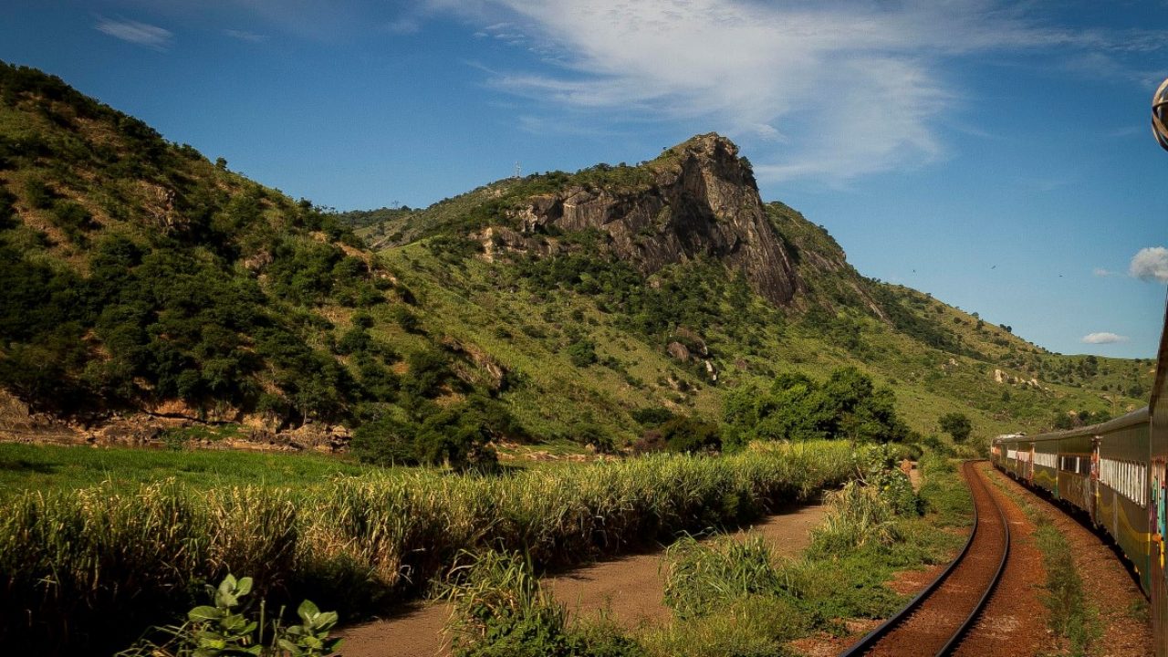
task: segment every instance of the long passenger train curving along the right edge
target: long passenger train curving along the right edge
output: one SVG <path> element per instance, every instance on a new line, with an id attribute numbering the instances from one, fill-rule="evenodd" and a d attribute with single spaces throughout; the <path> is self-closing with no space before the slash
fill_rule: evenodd
<path id="1" fill-rule="evenodd" d="M 1111 537 L 1150 601 L 1155 655 L 1168 657 L 1168 306 L 1147 407 L 1066 431 L 997 436 L 989 455 Z"/>

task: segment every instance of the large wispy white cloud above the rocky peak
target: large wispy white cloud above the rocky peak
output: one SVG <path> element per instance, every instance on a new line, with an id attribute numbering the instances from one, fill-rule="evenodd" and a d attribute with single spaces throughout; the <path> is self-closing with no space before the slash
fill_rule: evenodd
<path id="1" fill-rule="evenodd" d="M 561 55 L 550 58 L 559 72 L 498 74 L 495 87 L 557 109 L 701 119 L 756 139 L 751 159 L 767 180 L 842 182 L 946 157 L 943 127 L 965 126 L 945 112 L 972 105 L 945 74 L 954 58 L 1163 43 L 1161 33 L 1125 41 L 1040 27 L 993 0 L 427 2 Z"/>

